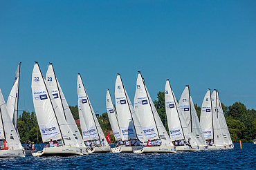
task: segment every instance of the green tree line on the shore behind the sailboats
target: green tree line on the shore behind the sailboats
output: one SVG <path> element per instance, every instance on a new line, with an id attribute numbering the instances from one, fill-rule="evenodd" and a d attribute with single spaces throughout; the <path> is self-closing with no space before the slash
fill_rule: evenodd
<path id="1" fill-rule="evenodd" d="M 164 92 L 158 92 L 157 100 L 154 100 L 154 105 L 168 131 Z M 200 117 L 201 107 L 197 104 L 194 104 L 194 106 L 196 108 L 197 115 Z M 247 109 L 241 102 L 235 102 L 232 106 L 225 106 L 221 103 L 221 106 L 223 108 L 223 113 L 226 118 L 232 142 L 239 142 L 239 140 L 241 140 L 241 142 L 252 142 L 256 135 L 256 111 L 254 109 Z M 71 109 L 74 119 L 79 120 L 78 107 L 69 106 L 69 108 Z M 102 113 L 102 115 L 98 117 L 98 122 L 100 123 L 104 135 L 106 136 L 107 133 L 109 133 L 111 142 L 116 142 L 107 113 Z M 22 115 L 19 115 L 17 125 L 21 143 L 28 141 L 42 143 L 41 133 L 39 131 L 37 117 L 34 111 L 31 113 L 24 111 Z M 80 129 L 80 126 L 78 126 L 78 128 Z"/>

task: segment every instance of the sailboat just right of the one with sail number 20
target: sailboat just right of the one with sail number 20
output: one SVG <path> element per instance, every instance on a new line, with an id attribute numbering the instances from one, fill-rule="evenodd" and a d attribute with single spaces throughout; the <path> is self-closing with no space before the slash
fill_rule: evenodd
<path id="1" fill-rule="evenodd" d="M 78 95 L 78 104 L 81 109 L 80 111 L 84 118 L 84 121 L 82 121 L 82 123 L 83 122 L 85 123 L 85 126 L 89 131 L 91 141 L 93 142 L 95 142 L 95 140 L 104 141 L 104 146 L 95 145 L 94 152 L 109 152 L 110 146 L 107 143 L 104 133 L 102 132 L 100 124 L 93 111 L 93 107 L 91 106 L 91 102 L 85 91 L 84 84 L 82 82 L 82 78 L 80 74 L 77 75 L 77 95 Z"/>

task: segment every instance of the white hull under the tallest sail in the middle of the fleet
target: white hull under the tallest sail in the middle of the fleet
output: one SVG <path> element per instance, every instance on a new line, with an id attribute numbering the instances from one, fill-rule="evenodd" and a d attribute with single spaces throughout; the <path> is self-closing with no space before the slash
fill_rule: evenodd
<path id="1" fill-rule="evenodd" d="M 141 149 L 134 150 L 134 153 L 176 153 L 174 147 L 142 147 Z"/>

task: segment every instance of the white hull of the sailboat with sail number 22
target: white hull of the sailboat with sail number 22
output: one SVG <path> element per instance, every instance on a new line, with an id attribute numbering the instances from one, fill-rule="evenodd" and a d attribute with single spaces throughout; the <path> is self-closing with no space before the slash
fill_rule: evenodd
<path id="1" fill-rule="evenodd" d="M 48 147 L 37 153 L 32 153 L 33 156 L 70 156 L 83 155 L 82 149 L 78 147 Z"/>

